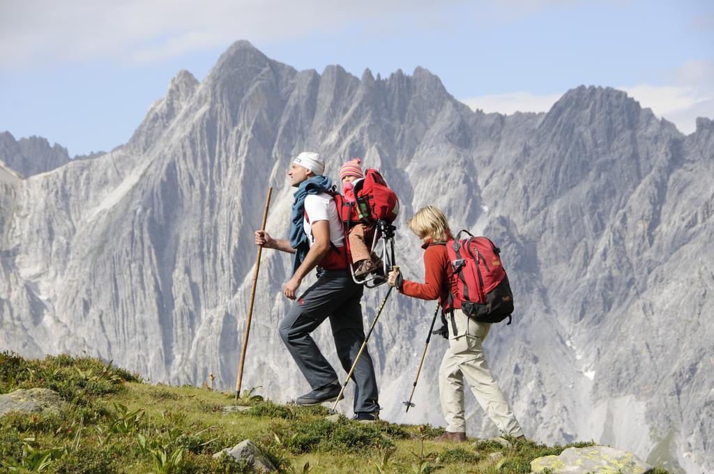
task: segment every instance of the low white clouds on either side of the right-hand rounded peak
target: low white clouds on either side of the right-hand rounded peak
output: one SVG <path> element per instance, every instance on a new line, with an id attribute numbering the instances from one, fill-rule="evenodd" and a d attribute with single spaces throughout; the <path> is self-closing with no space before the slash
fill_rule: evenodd
<path id="1" fill-rule="evenodd" d="M 681 132 L 692 133 L 697 117 L 714 117 L 714 61 L 687 61 L 673 71 L 670 79 L 672 85 L 639 84 L 617 89 L 625 91 L 640 106 L 652 109 L 656 116 L 674 123 Z M 546 112 L 562 95 L 520 91 L 478 96 L 462 102 L 484 112 Z"/>

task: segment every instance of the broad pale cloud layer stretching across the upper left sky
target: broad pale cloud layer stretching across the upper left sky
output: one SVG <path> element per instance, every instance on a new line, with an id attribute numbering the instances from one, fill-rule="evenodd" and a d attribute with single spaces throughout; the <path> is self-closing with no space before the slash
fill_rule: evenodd
<path id="1" fill-rule="evenodd" d="M 381 16 L 424 23 L 447 12 L 443 2 L 428 0 L 3 0 L 0 69 L 47 61 L 154 61 L 237 39 L 296 39 Z M 393 23 L 382 22 L 381 33 Z"/>

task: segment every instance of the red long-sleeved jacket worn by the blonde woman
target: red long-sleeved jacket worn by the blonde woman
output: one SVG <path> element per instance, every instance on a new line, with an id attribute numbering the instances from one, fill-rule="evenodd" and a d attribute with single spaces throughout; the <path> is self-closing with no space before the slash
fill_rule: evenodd
<path id="1" fill-rule="evenodd" d="M 404 280 L 400 292 L 406 296 L 421 298 L 423 300 L 436 300 L 439 298 L 443 307 L 448 298 L 448 291 L 456 294 L 456 281 L 453 278 L 453 268 L 448 258 L 446 245 L 433 244 L 431 241 L 424 243 L 424 283 Z"/>

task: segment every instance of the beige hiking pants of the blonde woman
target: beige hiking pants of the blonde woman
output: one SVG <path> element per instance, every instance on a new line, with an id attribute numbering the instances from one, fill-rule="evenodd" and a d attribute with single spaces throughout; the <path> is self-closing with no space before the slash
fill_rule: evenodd
<path id="1" fill-rule="evenodd" d="M 439 398 L 446 429 L 452 433 L 466 432 L 463 408 L 463 380 L 471 387 L 478 404 L 506 435 L 523 435 L 508 400 L 498 383 L 493 380 L 483 354 L 483 340 L 488 336 L 490 323 L 478 323 L 461 310 L 454 311 L 456 336 L 451 317 L 447 315 L 449 348 L 439 368 Z"/>

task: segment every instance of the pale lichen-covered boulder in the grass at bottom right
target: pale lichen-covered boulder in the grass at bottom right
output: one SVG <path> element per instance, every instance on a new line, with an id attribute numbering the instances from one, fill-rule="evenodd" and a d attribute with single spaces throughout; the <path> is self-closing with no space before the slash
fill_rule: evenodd
<path id="1" fill-rule="evenodd" d="M 568 448 L 558 456 L 544 456 L 531 461 L 533 473 L 542 473 L 545 469 L 554 474 L 642 474 L 651 470 L 652 466 L 643 463 L 633 453 L 607 446 L 590 446 Z"/>

